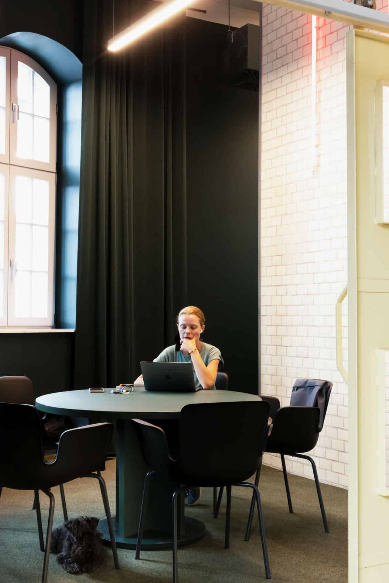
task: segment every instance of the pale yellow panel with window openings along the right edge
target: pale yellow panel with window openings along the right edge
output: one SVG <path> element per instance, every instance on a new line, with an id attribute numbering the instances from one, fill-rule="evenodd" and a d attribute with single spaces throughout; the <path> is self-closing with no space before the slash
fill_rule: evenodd
<path id="1" fill-rule="evenodd" d="M 389 79 L 387 41 L 359 31 L 349 33 L 347 66 L 352 502 L 349 521 L 354 525 L 349 534 L 349 583 L 387 583 L 389 498 L 377 491 L 377 349 L 389 346 L 389 229 L 375 222 L 374 148 L 374 93 L 377 81 Z"/>

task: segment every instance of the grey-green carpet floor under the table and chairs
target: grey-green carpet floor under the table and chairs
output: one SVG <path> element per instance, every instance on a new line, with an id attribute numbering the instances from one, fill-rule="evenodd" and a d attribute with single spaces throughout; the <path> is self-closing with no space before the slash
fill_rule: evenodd
<path id="1" fill-rule="evenodd" d="M 111 510 L 115 508 L 115 461 L 103 474 Z M 325 534 L 316 489 L 312 480 L 290 475 L 295 514 L 289 514 L 282 472 L 262 468 L 260 491 L 267 529 L 269 561 L 274 583 L 346 583 L 347 491 L 323 484 L 322 492 L 330 534 Z M 66 484 L 69 517 L 86 514 L 104 518 L 97 480 L 79 479 Z M 55 495 L 54 527 L 63 522 L 59 489 Z M 47 497 L 41 494 L 43 520 Z M 40 583 L 43 553 L 40 552 L 36 514 L 31 510 L 33 493 L 3 489 L 0 498 L 0 583 Z M 266 581 L 257 520 L 249 542 L 244 542 L 250 491 L 234 488 L 230 549 L 223 548 L 225 497 L 220 516 L 212 517 L 212 489 L 205 489 L 201 503 L 187 508 L 187 515 L 205 522 L 204 538 L 178 549 L 180 583 L 251 583 Z M 45 532 L 45 531 L 44 531 Z M 69 575 L 50 557 L 48 583 L 167 583 L 172 580 L 171 551 L 141 553 L 118 549 L 121 570 L 115 571 L 108 547 L 102 567 L 86 575 Z"/>

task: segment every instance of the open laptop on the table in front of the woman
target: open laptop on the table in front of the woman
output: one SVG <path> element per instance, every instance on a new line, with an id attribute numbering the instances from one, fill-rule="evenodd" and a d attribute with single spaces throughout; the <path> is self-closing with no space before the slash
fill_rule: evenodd
<path id="1" fill-rule="evenodd" d="M 146 391 L 194 393 L 201 388 L 195 386 L 192 363 L 141 362 L 141 370 Z"/>

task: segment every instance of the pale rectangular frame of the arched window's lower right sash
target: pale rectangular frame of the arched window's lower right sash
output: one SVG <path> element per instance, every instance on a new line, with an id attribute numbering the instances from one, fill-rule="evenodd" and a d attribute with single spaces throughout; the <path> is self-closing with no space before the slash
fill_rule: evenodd
<path id="1" fill-rule="evenodd" d="M 15 315 L 15 279 L 17 278 L 17 265 L 8 269 L 8 326 L 52 326 L 54 323 L 54 257 L 55 257 L 55 174 L 9 166 L 9 231 L 8 231 L 8 266 L 15 259 L 15 181 L 17 176 L 47 180 L 49 183 L 48 204 L 48 289 L 47 289 L 47 317 L 46 318 L 17 318 Z"/>

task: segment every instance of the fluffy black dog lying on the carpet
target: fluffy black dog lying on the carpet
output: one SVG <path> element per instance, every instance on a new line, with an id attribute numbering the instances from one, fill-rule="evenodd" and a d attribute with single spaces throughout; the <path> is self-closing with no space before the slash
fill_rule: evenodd
<path id="1" fill-rule="evenodd" d="M 50 552 L 57 554 L 57 561 L 66 573 L 90 573 L 103 563 L 98 524 L 98 518 L 80 516 L 52 531 Z"/>

